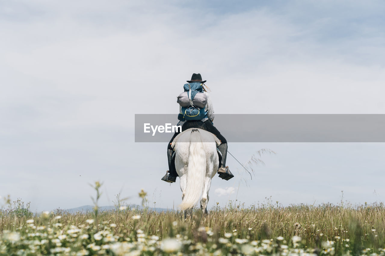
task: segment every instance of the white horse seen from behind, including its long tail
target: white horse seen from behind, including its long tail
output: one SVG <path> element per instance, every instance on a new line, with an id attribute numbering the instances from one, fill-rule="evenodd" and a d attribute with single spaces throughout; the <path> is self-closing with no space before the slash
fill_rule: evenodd
<path id="1" fill-rule="evenodd" d="M 211 179 L 219 165 L 218 143 L 215 135 L 198 128 L 180 133 L 172 143 L 182 190 L 182 203 L 179 207 L 185 214 L 199 199 L 203 214 L 207 214 Z"/>

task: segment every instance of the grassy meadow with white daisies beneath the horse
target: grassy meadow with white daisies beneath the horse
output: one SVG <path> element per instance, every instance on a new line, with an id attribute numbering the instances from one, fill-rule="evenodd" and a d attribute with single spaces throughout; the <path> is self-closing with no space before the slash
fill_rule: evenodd
<path id="1" fill-rule="evenodd" d="M 0 255 L 385 255 L 380 204 L 281 207 L 236 202 L 202 216 L 130 208 L 32 213 L 21 200 L 0 212 Z M 146 206 L 146 192 L 139 196 Z M 7 201 L 7 200 L 6 200 Z"/>

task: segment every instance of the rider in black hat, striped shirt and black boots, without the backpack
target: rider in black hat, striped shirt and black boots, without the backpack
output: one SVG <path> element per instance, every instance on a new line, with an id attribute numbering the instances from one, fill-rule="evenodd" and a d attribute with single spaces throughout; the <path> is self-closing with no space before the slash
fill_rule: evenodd
<path id="1" fill-rule="evenodd" d="M 193 73 L 191 76 L 191 80 L 187 81 L 187 83 L 201 83 L 204 85 L 205 81 L 202 81 L 202 76 L 201 74 L 196 74 Z M 206 86 L 206 85 L 205 85 Z M 207 86 L 206 86 L 207 87 Z M 234 177 L 234 175 L 230 172 L 229 166 L 226 166 L 226 156 L 227 156 L 227 141 L 221 135 L 221 133 L 218 131 L 218 129 L 213 125 L 213 120 L 214 120 L 214 108 L 213 108 L 213 103 L 211 102 L 210 95 L 208 91 L 203 87 L 203 93 L 207 96 L 207 105 L 205 108 L 205 111 L 207 111 L 207 115 L 204 116 L 203 119 L 200 120 L 200 122 L 196 121 L 180 121 L 178 125 L 181 125 L 183 128 L 182 130 L 186 130 L 187 126 L 188 128 L 192 128 L 191 124 L 193 123 L 199 123 L 202 124 L 204 123 L 203 126 L 205 126 L 205 130 L 213 133 L 217 138 L 221 141 L 221 145 L 218 146 L 219 151 L 221 152 L 222 159 L 221 162 L 219 163 L 219 169 L 218 169 L 218 174 L 219 177 L 224 179 L 224 180 L 229 180 Z M 179 106 L 179 113 L 181 113 L 181 106 Z M 201 127 L 198 127 L 201 128 Z M 166 182 L 173 183 L 176 181 L 176 177 L 178 174 L 176 173 L 175 170 L 175 159 L 173 158 L 173 150 L 171 148 L 171 143 L 174 140 L 174 138 L 179 134 L 180 132 L 177 131 L 175 132 L 174 136 L 172 136 L 168 146 L 167 146 L 167 159 L 168 159 L 168 164 L 169 164 L 169 171 L 167 171 L 166 175 L 162 178 L 162 180 Z"/>

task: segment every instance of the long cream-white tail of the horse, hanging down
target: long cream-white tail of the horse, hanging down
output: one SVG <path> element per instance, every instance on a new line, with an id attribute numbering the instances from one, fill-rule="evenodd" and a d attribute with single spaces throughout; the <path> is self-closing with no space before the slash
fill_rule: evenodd
<path id="1" fill-rule="evenodd" d="M 182 211 L 190 209 L 198 203 L 203 193 L 205 173 L 206 154 L 203 148 L 202 135 L 199 131 L 193 131 L 190 135 L 186 193 L 179 205 Z"/>

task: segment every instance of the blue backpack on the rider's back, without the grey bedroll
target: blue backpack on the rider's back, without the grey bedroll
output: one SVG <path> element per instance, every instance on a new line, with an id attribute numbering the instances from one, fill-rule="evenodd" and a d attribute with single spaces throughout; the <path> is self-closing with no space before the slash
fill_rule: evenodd
<path id="1" fill-rule="evenodd" d="M 195 95 L 200 92 L 203 93 L 203 87 L 201 83 L 186 83 L 184 86 L 184 91 L 187 92 L 187 95 L 190 100 L 190 105 L 187 107 L 182 107 L 182 113 L 179 113 L 178 120 L 180 121 L 191 121 L 191 120 L 201 120 L 207 116 L 207 111 L 204 108 L 198 108 L 194 106 L 192 100 L 194 100 Z"/>

